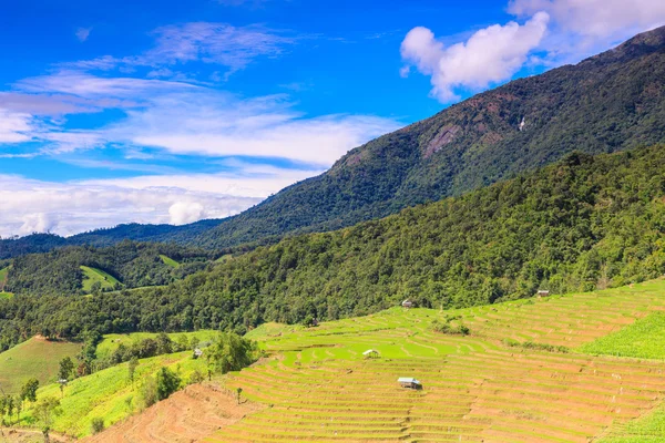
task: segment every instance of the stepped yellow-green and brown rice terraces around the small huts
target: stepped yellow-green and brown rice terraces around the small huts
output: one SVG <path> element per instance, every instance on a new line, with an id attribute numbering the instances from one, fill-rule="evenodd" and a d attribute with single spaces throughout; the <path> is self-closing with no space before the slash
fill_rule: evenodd
<path id="1" fill-rule="evenodd" d="M 433 332 L 431 321 L 451 312 L 426 309 L 311 329 L 272 326 L 274 333 L 253 334 L 273 357 L 226 381 L 268 408 L 205 441 L 589 442 L 620 435 L 661 403 L 665 363 L 576 349 L 664 309 L 658 280 L 452 312 L 470 328 L 467 337 Z M 507 347 L 504 339 L 571 351 Z M 362 357 L 370 348 L 379 359 Z M 423 389 L 402 389 L 398 377 L 415 377 Z"/>

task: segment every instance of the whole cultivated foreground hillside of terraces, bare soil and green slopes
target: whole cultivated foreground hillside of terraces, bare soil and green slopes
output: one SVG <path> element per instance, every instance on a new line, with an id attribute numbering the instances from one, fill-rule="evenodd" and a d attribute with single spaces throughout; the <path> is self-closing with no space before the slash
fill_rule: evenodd
<path id="1" fill-rule="evenodd" d="M 73 380 L 52 430 L 84 437 L 104 418 L 111 427 L 91 442 L 661 442 L 665 360 L 653 342 L 664 310 L 665 280 L 654 280 L 457 311 L 396 307 L 311 328 L 266 323 L 247 337 L 268 357 L 142 413 L 127 363 Z M 181 336 L 191 333 L 171 338 Z M 147 337 L 105 336 L 98 352 Z M 162 365 L 183 380 L 205 372 L 191 356 L 140 360 L 136 384 Z M 225 393 L 237 388 L 236 405 Z M 44 395 L 60 396 L 58 384 Z"/>

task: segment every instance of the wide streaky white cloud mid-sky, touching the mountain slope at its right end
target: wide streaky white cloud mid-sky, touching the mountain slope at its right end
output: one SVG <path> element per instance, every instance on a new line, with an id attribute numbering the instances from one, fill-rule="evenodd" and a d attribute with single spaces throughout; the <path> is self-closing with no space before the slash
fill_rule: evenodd
<path id="1" fill-rule="evenodd" d="M 224 94 L 161 96 L 110 132 L 173 154 L 283 157 L 331 165 L 350 148 L 399 127 L 388 119 L 306 119 L 280 97 L 239 101 Z"/>

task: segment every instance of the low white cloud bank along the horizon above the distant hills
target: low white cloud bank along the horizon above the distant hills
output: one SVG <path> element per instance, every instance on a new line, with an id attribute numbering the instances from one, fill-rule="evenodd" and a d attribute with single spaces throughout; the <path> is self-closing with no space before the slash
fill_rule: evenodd
<path id="1" fill-rule="evenodd" d="M 242 162 L 218 174 L 145 175 L 68 183 L 0 174 L 0 236 L 73 235 L 123 223 L 186 224 L 224 218 L 321 171 Z"/>

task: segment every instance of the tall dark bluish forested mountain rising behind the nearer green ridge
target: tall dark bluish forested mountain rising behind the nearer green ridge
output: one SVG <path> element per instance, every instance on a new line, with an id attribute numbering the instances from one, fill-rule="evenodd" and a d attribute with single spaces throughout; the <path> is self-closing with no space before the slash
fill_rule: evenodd
<path id="1" fill-rule="evenodd" d="M 659 28 L 371 141 L 327 173 L 238 216 L 181 227 L 123 225 L 66 243 L 266 244 L 285 234 L 336 229 L 460 195 L 573 151 L 598 154 L 663 142 L 664 122 L 665 28 Z M 8 256 L 3 248 L 0 241 L 0 258 Z"/>

